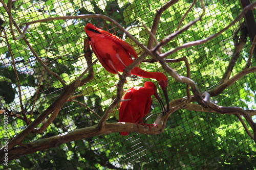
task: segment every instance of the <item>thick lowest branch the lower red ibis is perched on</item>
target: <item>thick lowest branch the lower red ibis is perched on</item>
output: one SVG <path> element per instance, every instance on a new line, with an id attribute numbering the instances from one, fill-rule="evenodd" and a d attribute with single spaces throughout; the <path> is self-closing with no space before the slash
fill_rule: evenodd
<path id="1" fill-rule="evenodd" d="M 45 139 L 39 139 L 34 142 L 19 145 L 12 150 L 8 151 L 8 160 L 16 159 L 20 156 L 28 155 L 36 151 L 45 150 L 48 148 L 57 147 L 63 143 L 67 143 L 74 140 L 89 138 L 102 134 L 110 134 L 120 131 L 138 132 L 143 134 L 159 134 L 161 133 L 157 127 L 152 127 L 151 130 L 144 125 L 136 125 L 133 123 L 110 123 L 105 124 L 102 129 L 98 128 L 98 125 L 94 125 L 88 128 L 82 128 L 73 130 L 70 132 L 61 133 L 56 136 L 52 136 Z M 9 144 L 8 144 L 9 145 Z M 0 157 L 0 163 L 4 161 L 4 156 Z"/>

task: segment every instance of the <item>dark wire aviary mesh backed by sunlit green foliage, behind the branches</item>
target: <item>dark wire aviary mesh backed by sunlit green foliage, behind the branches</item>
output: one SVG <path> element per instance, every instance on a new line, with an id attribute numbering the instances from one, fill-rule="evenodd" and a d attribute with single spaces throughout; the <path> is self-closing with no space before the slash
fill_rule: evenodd
<path id="1" fill-rule="evenodd" d="M 8 4 L 8 1 L 1 3 Z M 82 14 L 103 14 L 116 20 L 141 43 L 147 44 L 148 32 L 142 23 L 151 28 L 156 11 L 167 1 L 13 1 L 11 14 L 19 29 L 24 22 L 38 19 L 75 16 Z M 193 1 L 178 1 L 161 15 L 156 39 L 161 41 L 176 31 L 182 16 Z M 203 18 L 187 31 L 179 34 L 162 48 L 162 53 L 189 41 L 204 39 L 228 26 L 242 11 L 239 1 L 204 1 Z M 10 7 L 10 3 L 7 7 Z M 9 16 L 0 5 L 0 17 L 4 21 L 0 37 L 0 109 L 21 114 L 22 105 L 28 118 L 33 121 L 46 110 L 61 94 L 63 86 L 42 67 L 31 52 L 44 62 L 49 70 L 56 72 L 66 84 L 71 83 L 87 67 L 84 58 L 84 26 L 88 22 L 96 27 L 129 42 L 140 55 L 142 49 L 110 21 L 100 18 L 58 19 L 37 22 L 29 26 L 23 39 L 13 40 Z M 188 12 L 181 28 L 202 14 L 200 1 Z M 221 80 L 234 50 L 234 33 L 242 25 L 241 19 L 224 33 L 206 43 L 184 48 L 167 59 L 185 56 L 190 65 L 190 76 L 200 91 L 211 90 Z M 14 35 L 17 28 L 12 23 Z M 240 34 L 238 33 L 238 37 Z M 8 43 L 9 50 L 8 50 Z M 251 46 L 249 37 L 234 65 L 231 77 L 243 69 Z M 11 51 L 11 52 L 10 52 Z M 96 56 L 93 54 L 93 61 Z M 150 59 L 148 57 L 147 59 Z M 14 62 L 13 62 L 14 61 Z M 186 75 L 184 61 L 168 63 L 181 76 Z M 255 56 L 252 58 L 255 66 Z M 14 70 L 14 67 L 16 70 Z M 143 62 L 140 67 L 146 71 L 164 72 L 158 62 Z M 113 102 L 119 76 L 107 72 L 99 62 L 93 66 L 94 79 L 75 90 L 72 99 L 59 111 L 51 125 L 39 134 L 29 134 L 22 142 L 29 143 L 76 129 L 96 125 L 104 111 Z M 18 74 L 17 81 L 15 73 Z M 186 85 L 168 77 L 169 100 L 186 96 Z M 86 77 L 87 74 L 84 76 Z M 130 76 L 124 90 L 142 86 L 145 79 Z M 18 85 L 18 82 L 20 86 Z M 20 89 L 19 89 L 20 88 Z M 246 110 L 255 108 L 255 73 L 252 72 L 225 89 L 211 101 L 220 106 L 238 106 Z M 159 93 L 163 98 L 162 90 Z M 164 98 L 163 98 L 164 99 Z M 22 105 L 21 105 L 22 103 Z M 138 104 L 139 105 L 139 104 Z M 161 113 L 156 98 L 153 98 L 151 112 L 145 123 L 154 123 Z M 8 136 L 4 131 L 4 114 L 0 115 L 1 147 L 5 140 L 11 140 L 22 132 L 26 123 L 16 117 L 8 117 Z M 50 116 L 50 115 L 49 115 Z M 118 122 L 118 107 L 111 113 L 107 123 Z M 255 117 L 254 117 L 255 122 Z M 246 123 L 247 124 L 247 123 Z M 247 125 L 248 126 L 248 125 Z M 39 125 L 40 127 L 40 125 Z M 250 129 L 249 129 L 250 130 Z M 47 144 L 47 143 L 46 143 Z M 256 168 L 255 143 L 245 132 L 239 119 L 230 114 L 208 113 L 179 109 L 170 115 L 164 132 L 155 135 L 130 132 L 123 137 L 118 132 L 79 139 L 57 145 L 54 148 L 31 153 L 1 164 L 1 169 L 254 169 Z"/>

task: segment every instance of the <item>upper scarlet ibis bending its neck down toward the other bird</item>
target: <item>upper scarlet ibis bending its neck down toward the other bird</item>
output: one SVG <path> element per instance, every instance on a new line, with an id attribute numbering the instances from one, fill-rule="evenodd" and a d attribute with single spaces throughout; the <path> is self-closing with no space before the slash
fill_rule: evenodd
<path id="1" fill-rule="evenodd" d="M 113 74 L 118 74 L 118 71 L 123 72 L 126 66 L 134 62 L 132 56 L 135 59 L 138 58 L 134 48 L 121 38 L 101 30 L 91 23 L 87 23 L 84 30 L 86 31 L 96 57 L 107 71 Z M 131 74 L 156 79 L 163 89 L 167 111 L 169 110 L 169 99 L 166 90 L 167 77 L 164 74 L 161 72 L 147 72 L 139 67 L 135 67 L 131 71 Z"/>

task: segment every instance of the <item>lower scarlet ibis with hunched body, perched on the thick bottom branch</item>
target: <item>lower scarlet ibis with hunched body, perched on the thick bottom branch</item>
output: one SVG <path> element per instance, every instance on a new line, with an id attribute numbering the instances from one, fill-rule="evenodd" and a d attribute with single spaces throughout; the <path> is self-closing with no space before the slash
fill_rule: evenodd
<path id="1" fill-rule="evenodd" d="M 145 82 L 144 87 L 135 86 L 127 90 L 123 95 L 119 109 L 119 122 L 135 123 L 145 126 L 157 126 L 156 124 L 143 124 L 142 118 L 150 110 L 151 95 L 155 95 L 161 104 L 161 99 L 157 93 L 157 87 L 153 82 Z M 127 100 L 130 99 L 130 100 Z M 120 135 L 126 136 L 128 132 L 120 132 Z"/>

